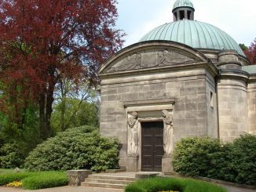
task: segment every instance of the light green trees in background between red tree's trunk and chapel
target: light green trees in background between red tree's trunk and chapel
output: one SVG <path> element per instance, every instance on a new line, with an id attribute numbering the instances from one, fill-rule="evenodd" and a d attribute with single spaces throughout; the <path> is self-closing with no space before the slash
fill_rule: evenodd
<path id="1" fill-rule="evenodd" d="M 82 125 L 98 126 L 98 96 L 90 82 L 62 77 L 55 91 L 51 125 L 64 131 Z"/>

